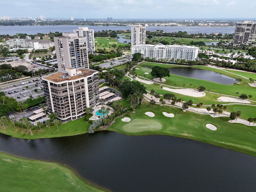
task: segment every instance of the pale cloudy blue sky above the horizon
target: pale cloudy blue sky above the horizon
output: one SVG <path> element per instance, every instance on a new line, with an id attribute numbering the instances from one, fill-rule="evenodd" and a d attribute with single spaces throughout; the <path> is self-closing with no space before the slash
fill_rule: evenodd
<path id="1" fill-rule="evenodd" d="M 0 17 L 256 18 L 254 0 L 1 0 Z"/>

